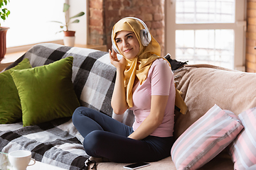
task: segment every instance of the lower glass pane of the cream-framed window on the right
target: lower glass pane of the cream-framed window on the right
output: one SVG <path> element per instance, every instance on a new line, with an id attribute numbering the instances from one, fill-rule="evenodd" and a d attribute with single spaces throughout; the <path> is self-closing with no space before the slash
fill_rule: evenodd
<path id="1" fill-rule="evenodd" d="M 233 69 L 234 30 L 176 30 L 176 60 Z"/>

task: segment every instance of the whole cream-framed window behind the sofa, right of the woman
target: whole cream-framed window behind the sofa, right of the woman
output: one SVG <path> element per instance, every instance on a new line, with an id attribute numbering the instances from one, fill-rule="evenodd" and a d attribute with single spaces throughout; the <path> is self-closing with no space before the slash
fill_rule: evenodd
<path id="1" fill-rule="evenodd" d="M 245 1 L 166 1 L 166 52 L 188 64 L 245 70 Z"/>

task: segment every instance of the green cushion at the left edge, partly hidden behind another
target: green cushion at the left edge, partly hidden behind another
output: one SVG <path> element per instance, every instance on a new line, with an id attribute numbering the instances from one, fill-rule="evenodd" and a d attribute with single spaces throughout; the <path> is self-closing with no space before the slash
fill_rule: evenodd
<path id="1" fill-rule="evenodd" d="M 28 59 L 22 60 L 12 69 L 32 68 Z M 21 120 L 21 101 L 11 77 L 10 70 L 0 74 L 0 124 L 15 123 Z"/>

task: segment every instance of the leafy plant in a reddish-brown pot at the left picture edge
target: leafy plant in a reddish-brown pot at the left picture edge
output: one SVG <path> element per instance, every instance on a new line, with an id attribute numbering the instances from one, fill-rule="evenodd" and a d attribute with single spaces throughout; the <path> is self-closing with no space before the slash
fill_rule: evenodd
<path id="1" fill-rule="evenodd" d="M 10 2 L 10 0 L 8 0 Z M 0 18 L 5 21 L 6 18 L 9 16 L 10 11 L 6 8 L 7 0 L 0 0 Z M 4 58 L 4 55 L 6 54 L 6 33 L 8 27 L 1 27 L 0 23 L 0 59 Z"/>

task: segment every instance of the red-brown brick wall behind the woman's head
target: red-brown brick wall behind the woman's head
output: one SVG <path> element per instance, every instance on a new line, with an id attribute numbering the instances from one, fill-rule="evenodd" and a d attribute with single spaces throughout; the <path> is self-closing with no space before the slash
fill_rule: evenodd
<path id="1" fill-rule="evenodd" d="M 111 31 L 119 19 L 142 19 L 164 50 L 164 0 L 90 0 L 89 43 L 111 48 Z M 163 54 L 164 55 L 164 54 Z"/>

